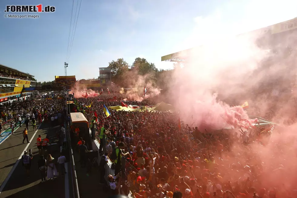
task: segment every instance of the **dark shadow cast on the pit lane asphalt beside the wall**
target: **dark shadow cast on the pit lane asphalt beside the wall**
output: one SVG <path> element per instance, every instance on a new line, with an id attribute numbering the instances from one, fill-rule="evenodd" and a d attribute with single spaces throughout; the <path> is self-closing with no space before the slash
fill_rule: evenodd
<path id="1" fill-rule="evenodd" d="M 15 167 L 14 172 L 6 183 L 4 189 L 1 192 L 0 197 L 37 197 L 41 196 L 45 197 L 64 197 L 64 176 L 58 176 L 54 180 L 47 180 L 45 183 L 40 183 L 41 176 L 38 169 L 38 149 L 36 146 L 36 139 L 38 135 L 42 135 L 42 139 L 45 138 L 45 135 L 50 136 L 50 143 L 56 142 L 56 132 L 60 130 L 60 126 L 49 127 L 48 123 L 42 123 L 38 132 L 32 139 L 32 143 L 30 143 L 27 151 L 32 149 L 32 162 L 30 169 L 30 177 L 27 178 L 26 170 L 22 165 L 21 159 L 18 165 Z M 35 131 L 34 131 L 35 132 Z M 17 146 L 17 145 L 16 145 Z M 21 153 L 19 153 L 20 155 Z M 48 145 L 48 151 L 45 151 L 45 159 L 47 159 L 47 155 L 51 154 L 52 157 L 55 158 L 55 162 L 57 163 L 59 154 L 60 154 L 60 146 L 59 144 Z M 18 157 L 16 157 L 18 158 Z M 14 158 L 12 158 L 14 159 Z M 10 164 L 11 166 L 13 164 Z M 58 167 L 58 166 L 57 166 Z M 36 192 L 42 192 L 39 194 Z M 60 196 L 61 195 L 61 196 Z"/>

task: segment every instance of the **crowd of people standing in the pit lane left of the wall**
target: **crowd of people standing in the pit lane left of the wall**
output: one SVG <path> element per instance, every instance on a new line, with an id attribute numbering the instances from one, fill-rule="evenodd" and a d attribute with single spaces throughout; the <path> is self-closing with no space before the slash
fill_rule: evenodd
<path id="1" fill-rule="evenodd" d="M 37 130 L 36 124 L 41 123 L 44 119 L 43 122 L 51 124 L 52 127 L 60 125 L 57 131 L 57 138 L 59 144 L 62 145 L 62 141 L 65 136 L 65 129 L 63 127 L 66 118 L 65 106 L 65 97 L 60 97 L 59 99 L 58 97 L 53 97 L 51 99 L 32 99 L 22 102 L 12 102 L 5 106 L 5 110 L 2 109 L 1 111 L 3 120 L 2 124 L 8 122 L 10 128 L 12 129 L 12 134 L 14 127 L 25 125 L 23 136 L 24 140 L 26 138 L 27 142 L 29 143 L 28 131 Z M 45 182 L 46 177 L 48 180 L 53 180 L 55 176 L 64 174 L 65 156 L 61 154 L 60 157 L 54 159 L 51 156 L 52 153 L 50 153 L 50 151 L 47 149 L 47 145 L 50 143 L 49 139 L 52 139 L 53 141 L 55 138 L 50 138 L 48 134 L 43 137 L 41 135 L 38 136 L 38 138 L 40 138 L 40 146 L 37 145 L 39 156 L 36 156 L 39 159 L 38 163 L 31 164 L 33 155 L 29 155 L 28 151 L 24 152 L 24 155 L 22 156 L 22 162 L 28 177 L 30 176 L 31 169 L 39 169 L 41 172 L 41 182 Z M 28 160 L 25 160 L 27 158 Z"/>

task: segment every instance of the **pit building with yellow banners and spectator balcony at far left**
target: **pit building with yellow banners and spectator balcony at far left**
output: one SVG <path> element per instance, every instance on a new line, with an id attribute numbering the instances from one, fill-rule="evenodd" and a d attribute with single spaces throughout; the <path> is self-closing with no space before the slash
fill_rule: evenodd
<path id="1" fill-rule="evenodd" d="M 25 100 L 32 97 L 32 92 L 23 93 L 23 87 L 35 87 L 33 75 L 18 71 L 11 67 L 0 64 L 0 104 L 15 100 Z"/>

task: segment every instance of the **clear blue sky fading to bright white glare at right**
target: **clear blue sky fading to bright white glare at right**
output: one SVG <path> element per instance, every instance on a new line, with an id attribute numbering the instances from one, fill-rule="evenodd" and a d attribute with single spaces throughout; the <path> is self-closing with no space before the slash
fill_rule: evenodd
<path id="1" fill-rule="evenodd" d="M 56 11 L 35 19 L 4 17 L 6 5 L 39 4 Z M 67 75 L 97 78 L 99 67 L 118 58 L 132 64 L 143 57 L 168 69 L 163 55 L 292 19 L 296 7 L 289 0 L 82 0 Z M 0 1 L 0 63 L 38 81 L 64 76 L 71 8 L 72 0 Z"/>

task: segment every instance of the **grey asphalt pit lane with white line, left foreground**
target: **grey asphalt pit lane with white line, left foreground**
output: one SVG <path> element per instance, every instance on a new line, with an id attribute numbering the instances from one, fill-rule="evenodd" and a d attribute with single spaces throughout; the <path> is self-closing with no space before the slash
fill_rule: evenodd
<path id="1" fill-rule="evenodd" d="M 38 129 L 38 124 L 37 129 Z M 55 160 L 58 159 L 60 154 L 60 147 L 56 138 L 56 132 L 60 130 L 60 126 L 51 126 L 49 123 L 42 123 L 39 126 L 37 133 L 33 131 L 32 126 L 28 130 L 28 139 L 30 143 L 22 143 L 23 135 L 22 132 L 25 129 L 25 124 L 15 130 L 14 135 L 10 135 L 0 145 L 0 185 L 5 182 L 6 177 L 9 175 L 13 167 L 15 166 L 12 174 L 10 175 L 4 188 L 0 189 L 0 198 L 2 197 L 65 197 L 65 176 L 58 176 L 54 180 L 47 180 L 44 183 L 40 183 L 41 176 L 38 169 L 37 161 L 39 159 L 38 149 L 36 146 L 36 139 L 38 135 L 42 135 L 42 139 L 45 138 L 46 134 L 49 135 L 51 146 L 48 146 L 48 151 L 45 151 L 45 158 L 47 154 L 51 154 Z M 2 132 L 3 133 L 3 132 Z M 17 163 L 20 156 L 23 155 L 23 151 L 29 144 L 27 151 L 32 149 L 33 159 L 30 169 L 30 177 L 27 178 L 25 168 L 22 166 L 21 160 Z"/>

